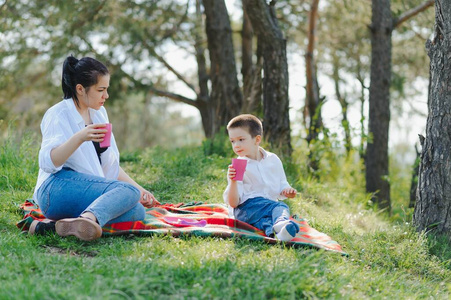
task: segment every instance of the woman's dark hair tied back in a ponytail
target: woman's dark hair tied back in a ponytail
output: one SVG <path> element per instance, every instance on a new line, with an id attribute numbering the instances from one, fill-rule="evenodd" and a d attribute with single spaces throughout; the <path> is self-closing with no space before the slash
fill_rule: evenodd
<path id="1" fill-rule="evenodd" d="M 63 98 L 72 98 L 79 106 L 75 90 L 77 84 L 81 84 L 88 91 L 91 86 L 97 84 L 99 75 L 107 74 L 109 74 L 107 67 L 94 58 L 83 57 L 78 60 L 72 55 L 68 56 L 63 64 Z"/>

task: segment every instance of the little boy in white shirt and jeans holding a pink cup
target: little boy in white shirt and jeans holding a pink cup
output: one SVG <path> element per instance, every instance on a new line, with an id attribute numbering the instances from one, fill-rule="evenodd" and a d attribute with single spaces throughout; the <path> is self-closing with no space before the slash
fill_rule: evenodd
<path id="1" fill-rule="evenodd" d="M 294 198 L 297 191 L 288 184 L 279 157 L 260 147 L 262 123 L 253 115 L 239 115 L 229 122 L 227 131 L 233 152 L 247 160 L 247 166 L 243 181 L 236 181 L 236 170 L 229 165 L 225 203 L 233 208 L 236 219 L 269 237 L 275 233 L 279 240 L 290 241 L 299 226 L 290 221 L 288 206 L 278 200 Z"/>

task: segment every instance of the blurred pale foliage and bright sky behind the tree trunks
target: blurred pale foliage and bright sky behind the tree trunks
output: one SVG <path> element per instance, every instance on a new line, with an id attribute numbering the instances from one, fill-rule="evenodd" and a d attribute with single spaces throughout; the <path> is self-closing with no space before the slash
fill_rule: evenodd
<path id="1" fill-rule="evenodd" d="M 105 58 L 107 63 L 120 63 L 128 74 L 146 80 L 152 87 L 177 91 L 187 98 L 195 97 L 181 77 L 177 77 L 180 74 L 189 82 L 196 81 L 193 31 L 199 28 L 193 20 L 194 1 L 188 4 L 185 1 L 150 1 L 152 4 L 147 7 L 135 4 L 134 9 L 142 10 L 134 14 L 136 22 L 142 22 L 135 25 L 145 28 L 150 35 L 148 41 L 143 41 L 146 46 L 138 45 L 136 40 L 142 37 L 134 37 L 133 30 L 127 27 L 131 24 L 126 22 L 127 15 L 118 10 L 125 5 L 119 4 L 120 1 L 116 4 L 114 1 L 81 1 L 64 5 L 58 1 L 35 1 L 28 5 L 14 2 L 8 1 L 8 6 L 16 11 L 9 11 L 10 8 L 1 11 L 8 20 L 2 22 L 0 35 L 3 137 L 11 122 L 14 130 L 39 131 L 43 112 L 61 99 L 61 65 L 68 54 L 92 55 L 100 60 Z M 225 2 L 230 13 L 237 69 L 240 69 L 241 2 Z M 403 12 L 422 2 L 393 1 L 392 10 Z M 310 1 L 278 1 L 275 8 L 287 40 L 292 136 L 302 139 L 306 136 L 304 56 Z M 368 120 L 371 1 L 322 1 L 318 15 L 315 56 L 320 93 L 325 97 L 323 122 L 337 140 L 344 140 L 338 98 L 345 98 L 349 103 L 353 145 L 358 147 L 366 134 Z M 426 125 L 429 60 L 425 41 L 432 34 L 433 24 L 434 9 L 431 8 L 403 24 L 393 35 L 390 152 L 403 164 L 413 163 L 417 134 L 423 133 Z M 174 27 L 177 30 L 171 33 Z M 129 35 L 126 35 L 127 29 Z M 168 32 L 172 35 L 165 36 Z M 334 78 L 334 64 L 338 64 L 339 78 Z M 204 139 L 197 109 L 155 95 L 150 89 L 134 88 L 133 83 L 117 74 L 114 68 L 112 72 L 107 105 L 120 149 L 154 145 L 177 147 L 199 144 Z"/>

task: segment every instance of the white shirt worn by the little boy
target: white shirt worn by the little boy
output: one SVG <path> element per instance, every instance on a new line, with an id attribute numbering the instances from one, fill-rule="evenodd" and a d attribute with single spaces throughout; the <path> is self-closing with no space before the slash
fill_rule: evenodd
<path id="1" fill-rule="evenodd" d="M 279 157 L 260 147 L 262 159 L 260 161 L 248 157 L 239 157 L 247 160 L 246 171 L 243 181 L 237 181 L 239 204 L 255 197 L 264 197 L 273 201 L 284 200 L 285 196 L 280 193 L 291 187 L 288 184 L 282 162 Z M 227 177 L 227 188 L 224 191 L 224 202 L 228 204 L 227 195 L 230 189 L 231 180 Z M 231 214 L 232 213 L 232 214 Z M 229 207 L 229 215 L 233 216 L 233 208 Z"/>

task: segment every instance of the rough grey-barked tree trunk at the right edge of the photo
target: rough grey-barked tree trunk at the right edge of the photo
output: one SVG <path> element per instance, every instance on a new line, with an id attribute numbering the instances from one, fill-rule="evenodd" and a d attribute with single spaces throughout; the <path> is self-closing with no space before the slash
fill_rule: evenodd
<path id="1" fill-rule="evenodd" d="M 451 236 L 451 2 L 435 2 L 435 37 L 427 42 L 430 84 L 413 223 Z"/>

